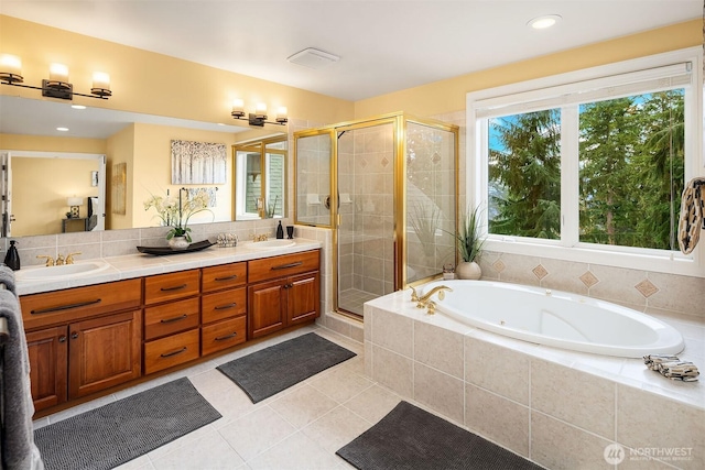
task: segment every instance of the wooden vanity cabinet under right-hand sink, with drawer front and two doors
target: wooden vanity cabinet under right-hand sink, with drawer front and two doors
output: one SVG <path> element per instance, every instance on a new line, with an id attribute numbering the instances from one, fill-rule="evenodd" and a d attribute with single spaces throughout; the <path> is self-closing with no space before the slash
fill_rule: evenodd
<path id="1" fill-rule="evenodd" d="M 249 338 L 318 317 L 319 263 L 318 250 L 248 262 Z"/>

